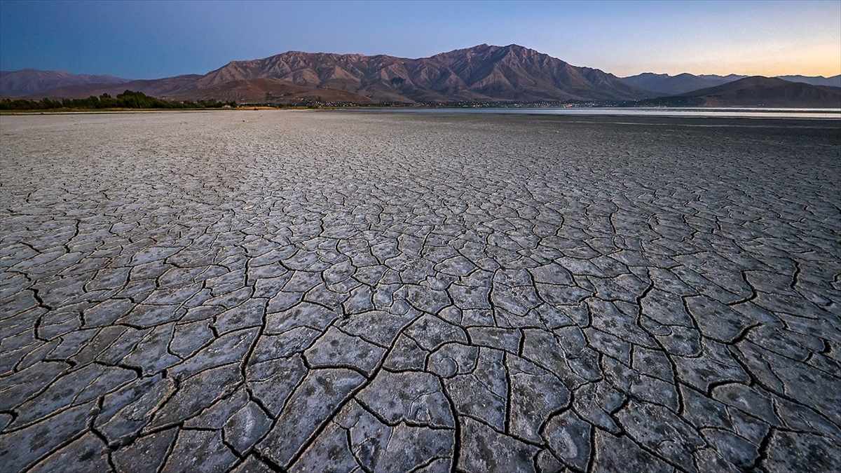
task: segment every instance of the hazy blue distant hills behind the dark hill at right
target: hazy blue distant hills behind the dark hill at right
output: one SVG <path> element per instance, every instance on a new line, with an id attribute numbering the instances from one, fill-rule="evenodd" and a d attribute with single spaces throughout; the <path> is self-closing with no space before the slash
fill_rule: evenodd
<path id="1" fill-rule="evenodd" d="M 653 74 L 652 72 L 644 72 L 636 76 L 621 77 L 621 80 L 628 84 L 650 90 L 660 95 L 678 95 L 681 93 L 692 92 L 701 88 L 716 87 L 727 82 L 738 81 L 748 76 L 738 76 L 730 74 L 729 76 L 716 76 L 713 74 L 704 74 L 695 76 L 688 73 L 678 74 L 677 76 L 669 76 L 669 74 Z M 833 77 L 808 77 L 808 76 L 779 76 L 777 78 L 789 82 L 803 82 L 817 86 L 841 87 L 841 76 Z"/>

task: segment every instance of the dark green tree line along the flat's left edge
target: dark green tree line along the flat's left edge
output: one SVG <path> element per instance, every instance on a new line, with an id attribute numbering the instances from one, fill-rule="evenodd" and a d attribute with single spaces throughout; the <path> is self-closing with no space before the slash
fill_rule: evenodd
<path id="1" fill-rule="evenodd" d="M 220 109 L 225 105 L 235 107 L 235 102 L 222 103 L 215 98 L 209 100 L 176 101 L 164 98 L 149 97 L 145 93 L 126 90 L 117 97 L 103 93 L 99 97 L 88 98 L 41 98 L 29 100 L 26 98 L 3 98 L 0 100 L 0 110 L 52 110 L 52 109 Z"/>

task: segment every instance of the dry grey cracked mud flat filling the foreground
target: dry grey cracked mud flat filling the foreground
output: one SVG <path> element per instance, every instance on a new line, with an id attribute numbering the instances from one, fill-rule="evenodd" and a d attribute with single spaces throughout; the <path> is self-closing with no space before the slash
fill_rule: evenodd
<path id="1" fill-rule="evenodd" d="M 841 465 L 838 122 L 0 125 L 4 471 Z"/>

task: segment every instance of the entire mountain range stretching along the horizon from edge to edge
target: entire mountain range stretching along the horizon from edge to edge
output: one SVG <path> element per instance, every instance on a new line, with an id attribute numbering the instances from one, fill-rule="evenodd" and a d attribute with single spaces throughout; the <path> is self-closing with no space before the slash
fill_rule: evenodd
<path id="1" fill-rule="evenodd" d="M 841 76 L 785 78 L 841 85 Z M 477 45 L 418 59 L 288 51 L 252 61 L 231 61 L 204 75 L 151 80 L 24 69 L 0 73 L 0 95 L 83 98 L 102 93 L 116 95 L 128 89 L 161 98 L 216 98 L 237 103 L 604 102 L 675 96 L 746 79 L 752 78 L 653 73 L 620 78 L 599 69 L 572 66 L 520 45 Z M 808 98 L 810 104 L 841 104 L 834 88 L 801 83 L 803 87 L 796 91 L 784 92 L 779 83 L 774 84 L 748 81 L 753 95 L 740 95 L 739 104 L 762 100 L 757 104 L 775 105 L 775 93 L 783 94 L 781 98 L 787 105 L 782 106 L 798 105 L 801 96 Z M 760 91 L 775 87 L 770 94 Z M 841 88 L 838 91 L 841 93 Z M 710 102 L 720 105 L 735 98 L 727 93 L 711 93 L 718 98 Z"/>

